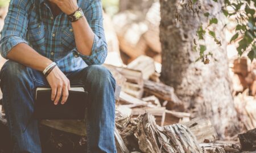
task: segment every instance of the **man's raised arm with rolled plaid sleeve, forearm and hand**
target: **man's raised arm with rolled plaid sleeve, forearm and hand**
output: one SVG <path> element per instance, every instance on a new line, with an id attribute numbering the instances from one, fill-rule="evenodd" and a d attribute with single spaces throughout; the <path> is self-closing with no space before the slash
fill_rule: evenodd
<path id="1" fill-rule="evenodd" d="M 65 14 L 72 14 L 79 8 L 76 0 L 50 0 Z M 100 65 L 104 63 L 108 46 L 106 44 L 103 15 L 100 0 L 91 0 L 88 8 L 82 10 L 86 12 L 86 18 L 83 16 L 76 22 L 72 22 L 73 32 L 76 41 L 76 52 L 84 59 L 87 65 Z"/>

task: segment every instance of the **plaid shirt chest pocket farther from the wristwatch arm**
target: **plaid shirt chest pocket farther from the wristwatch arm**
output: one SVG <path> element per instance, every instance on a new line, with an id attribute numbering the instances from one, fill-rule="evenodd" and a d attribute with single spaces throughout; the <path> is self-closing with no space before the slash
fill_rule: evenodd
<path id="1" fill-rule="evenodd" d="M 46 28 L 42 23 L 31 22 L 28 24 L 27 37 L 32 46 L 42 49 L 45 43 Z"/>

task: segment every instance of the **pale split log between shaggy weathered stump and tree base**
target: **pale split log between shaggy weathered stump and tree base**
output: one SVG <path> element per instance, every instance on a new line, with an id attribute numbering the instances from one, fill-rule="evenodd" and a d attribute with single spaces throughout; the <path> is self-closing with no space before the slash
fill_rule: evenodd
<path id="1" fill-rule="evenodd" d="M 189 122 L 183 123 L 196 136 L 199 143 L 215 142 L 218 139 L 216 130 L 210 120 L 204 118 L 194 118 Z"/>

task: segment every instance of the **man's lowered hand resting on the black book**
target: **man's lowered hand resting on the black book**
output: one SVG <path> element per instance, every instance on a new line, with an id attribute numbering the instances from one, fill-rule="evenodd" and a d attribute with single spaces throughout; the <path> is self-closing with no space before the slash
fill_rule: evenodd
<path id="1" fill-rule="evenodd" d="M 69 79 L 59 67 L 55 67 L 47 76 L 49 85 L 52 88 L 52 101 L 57 105 L 62 95 L 61 104 L 65 104 L 68 99 L 68 90 L 70 89 Z"/>

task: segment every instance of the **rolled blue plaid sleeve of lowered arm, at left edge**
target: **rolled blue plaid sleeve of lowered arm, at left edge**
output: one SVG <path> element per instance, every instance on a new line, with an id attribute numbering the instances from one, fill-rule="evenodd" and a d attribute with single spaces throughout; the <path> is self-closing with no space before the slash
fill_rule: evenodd
<path id="1" fill-rule="evenodd" d="M 26 2 L 12 0 L 10 1 L 9 11 L 5 18 L 5 25 L 1 31 L 0 53 L 3 58 L 6 58 L 14 46 L 20 43 L 26 43 L 27 33 L 27 11 Z"/>

